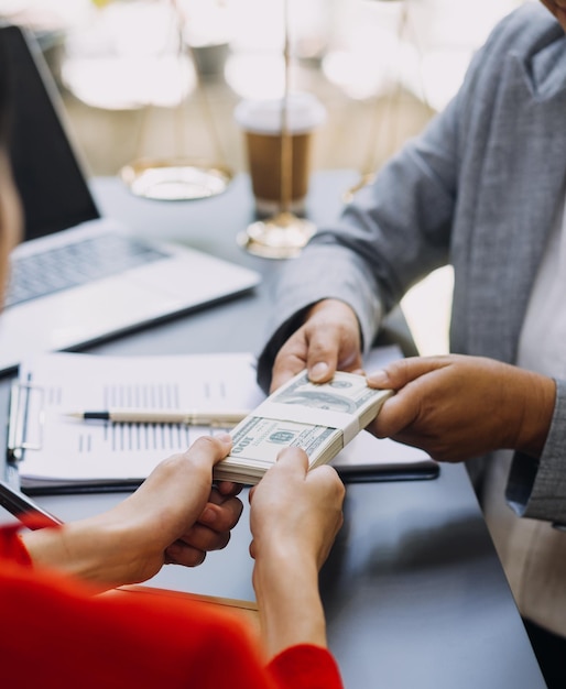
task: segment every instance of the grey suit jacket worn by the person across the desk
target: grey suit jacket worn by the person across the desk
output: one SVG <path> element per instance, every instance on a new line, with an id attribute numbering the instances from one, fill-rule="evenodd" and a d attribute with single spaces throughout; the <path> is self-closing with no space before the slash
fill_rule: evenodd
<path id="1" fill-rule="evenodd" d="M 526 3 L 496 28 L 450 105 L 289 263 L 260 383 L 313 303 L 348 302 L 369 348 L 383 315 L 446 263 L 451 350 L 514 362 L 565 177 L 566 36 Z M 557 390 L 544 455 L 515 455 L 508 500 L 526 516 L 566 522 L 566 381 Z"/>

